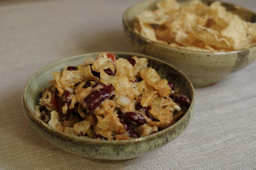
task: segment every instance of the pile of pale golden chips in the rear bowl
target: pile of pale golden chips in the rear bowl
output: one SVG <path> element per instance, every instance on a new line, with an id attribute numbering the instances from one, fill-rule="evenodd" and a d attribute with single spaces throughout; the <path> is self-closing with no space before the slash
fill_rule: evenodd
<path id="1" fill-rule="evenodd" d="M 177 48 L 195 51 L 234 51 L 256 45 L 256 24 L 243 21 L 216 1 L 210 6 L 194 0 L 156 3 L 157 9 L 137 15 L 134 31 Z"/>

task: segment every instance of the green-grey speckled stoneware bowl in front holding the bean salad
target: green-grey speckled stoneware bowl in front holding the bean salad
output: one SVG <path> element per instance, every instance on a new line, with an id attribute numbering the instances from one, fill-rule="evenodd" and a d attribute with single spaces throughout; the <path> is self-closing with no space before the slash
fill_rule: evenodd
<path id="1" fill-rule="evenodd" d="M 47 123 L 44 123 L 36 117 L 34 107 L 37 105 L 39 99 L 38 89 L 46 87 L 48 81 L 53 79 L 51 73 L 61 71 L 68 65 L 83 63 L 88 57 L 96 58 L 99 53 L 100 52 L 88 53 L 56 61 L 41 68 L 26 83 L 22 96 L 24 114 L 28 123 L 43 138 L 63 150 L 81 155 L 87 159 L 101 162 L 117 162 L 150 153 L 172 141 L 184 131 L 191 119 L 194 107 L 194 89 L 191 82 L 180 70 L 171 64 L 147 55 L 136 53 L 109 52 L 124 58 L 134 55 L 148 58 L 149 66 L 155 68 L 162 78 L 174 82 L 175 86 L 179 87 L 179 91 L 186 94 L 191 99 L 191 106 L 188 111 L 172 126 L 146 137 L 121 141 L 106 141 L 63 133 L 51 128 Z"/>

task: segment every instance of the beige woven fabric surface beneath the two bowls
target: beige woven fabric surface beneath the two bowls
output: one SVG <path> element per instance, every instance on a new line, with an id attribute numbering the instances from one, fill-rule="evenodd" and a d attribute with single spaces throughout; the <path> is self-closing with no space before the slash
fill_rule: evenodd
<path id="1" fill-rule="evenodd" d="M 256 169 L 256 62 L 196 89 L 188 128 L 163 148 L 130 161 L 86 160 L 27 125 L 21 94 L 36 70 L 81 53 L 135 52 L 121 15 L 138 1 L 0 1 L 0 169 Z M 256 11 L 255 0 L 233 2 Z"/>

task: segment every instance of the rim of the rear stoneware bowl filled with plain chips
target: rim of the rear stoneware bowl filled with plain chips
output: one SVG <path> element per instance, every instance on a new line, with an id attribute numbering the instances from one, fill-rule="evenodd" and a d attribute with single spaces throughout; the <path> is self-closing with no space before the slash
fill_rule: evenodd
<path id="1" fill-rule="evenodd" d="M 125 26 L 125 28 L 127 29 L 127 31 L 128 31 L 128 32 L 131 32 L 131 33 L 133 33 L 133 34 L 135 34 L 137 37 L 139 37 L 140 39 L 142 39 L 142 40 L 145 41 L 145 42 L 153 43 L 153 44 L 155 44 L 155 45 L 159 45 L 160 47 L 164 47 L 164 48 L 167 48 L 167 49 L 169 48 L 169 49 L 177 50 L 177 51 L 183 51 L 183 52 L 185 52 L 185 51 L 186 51 L 186 52 L 187 52 L 187 51 L 190 51 L 190 52 L 214 53 L 214 54 L 216 54 L 216 55 L 218 55 L 218 54 L 229 54 L 229 53 L 246 52 L 246 51 L 248 51 L 249 49 L 256 48 L 256 46 L 252 46 L 252 47 L 250 47 L 250 48 L 240 49 L 240 50 L 234 50 L 234 51 L 216 51 L 216 52 L 214 52 L 214 51 L 198 51 L 198 50 L 190 50 L 190 49 L 172 47 L 172 46 L 169 46 L 169 45 L 165 45 L 165 44 L 161 44 L 161 43 L 158 43 L 158 42 L 154 42 L 154 41 L 152 41 L 152 40 L 149 40 L 149 39 L 147 39 L 147 38 L 141 36 L 140 34 L 136 33 L 131 27 L 129 27 L 129 24 L 128 24 L 127 20 L 126 20 L 126 15 L 128 14 L 128 12 L 129 12 L 129 10 L 130 10 L 131 8 L 133 8 L 134 6 L 136 6 L 136 5 L 138 5 L 138 4 L 145 3 L 146 1 L 155 1 L 155 2 L 156 2 L 156 1 L 158 1 L 158 0 L 144 0 L 144 1 L 141 1 L 141 2 L 139 2 L 139 3 L 136 3 L 136 4 L 132 5 L 132 6 L 130 6 L 130 7 L 123 13 L 123 15 L 122 15 L 123 25 Z M 203 1 L 205 1 L 205 2 L 214 2 L 214 0 L 203 0 Z M 219 0 L 218 0 L 218 1 L 219 1 Z M 221 2 L 221 4 L 233 5 L 234 8 L 236 8 L 236 9 L 242 9 L 242 10 L 244 10 L 244 11 L 247 11 L 247 12 L 249 12 L 249 13 L 252 13 L 252 14 L 256 15 L 255 12 L 253 12 L 253 11 L 251 11 L 251 10 L 245 8 L 245 7 L 242 7 L 242 6 L 240 6 L 240 5 L 236 5 L 236 4 L 232 4 L 232 3 L 228 3 L 228 2 L 223 2 L 223 1 L 219 1 L 219 2 Z"/>

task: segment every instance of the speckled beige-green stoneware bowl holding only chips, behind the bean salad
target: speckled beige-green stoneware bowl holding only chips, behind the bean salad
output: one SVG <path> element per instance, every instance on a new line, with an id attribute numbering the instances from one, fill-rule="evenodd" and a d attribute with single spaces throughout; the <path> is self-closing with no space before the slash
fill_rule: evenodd
<path id="1" fill-rule="evenodd" d="M 186 3 L 190 0 L 177 0 Z M 199 52 L 174 48 L 152 42 L 133 31 L 136 15 L 146 9 L 155 9 L 157 0 L 146 0 L 130 7 L 123 15 L 123 26 L 127 37 L 138 52 L 160 58 L 183 71 L 194 87 L 217 83 L 234 70 L 239 70 L 256 58 L 256 46 L 231 52 Z M 213 1 L 203 0 L 206 4 Z M 238 14 L 245 21 L 255 22 L 256 14 L 237 5 L 222 3 L 228 11 Z"/>

